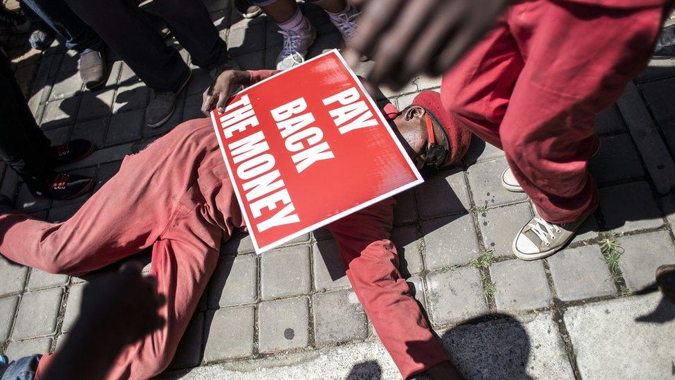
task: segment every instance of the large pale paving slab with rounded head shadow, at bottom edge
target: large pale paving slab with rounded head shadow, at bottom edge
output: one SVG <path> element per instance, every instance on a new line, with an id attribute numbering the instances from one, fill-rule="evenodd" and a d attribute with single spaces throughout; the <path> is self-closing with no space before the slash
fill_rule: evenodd
<path id="1" fill-rule="evenodd" d="M 551 313 L 463 325 L 441 342 L 466 379 L 573 379 Z"/>

